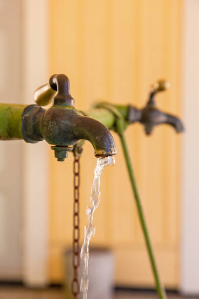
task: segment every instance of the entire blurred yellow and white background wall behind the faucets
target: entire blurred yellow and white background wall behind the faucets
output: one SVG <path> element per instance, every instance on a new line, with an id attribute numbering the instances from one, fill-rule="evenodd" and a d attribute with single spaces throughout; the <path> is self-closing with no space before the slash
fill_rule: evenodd
<path id="1" fill-rule="evenodd" d="M 179 115 L 183 137 L 159 126 L 126 130 L 131 159 L 160 273 L 167 288 L 199 294 L 198 0 L 0 0 L 1 102 L 33 104 L 34 90 L 53 73 L 70 78 L 76 107 L 97 100 L 143 107 L 159 78 L 171 88 L 160 109 Z M 116 256 L 120 286 L 152 287 L 118 136 L 116 165 L 101 179 L 91 245 Z M 73 156 L 54 158 L 45 142 L 0 147 L 0 280 L 43 286 L 63 279 L 71 246 Z M 183 158 L 183 159 L 182 159 Z M 96 158 L 81 158 L 81 241 Z"/>

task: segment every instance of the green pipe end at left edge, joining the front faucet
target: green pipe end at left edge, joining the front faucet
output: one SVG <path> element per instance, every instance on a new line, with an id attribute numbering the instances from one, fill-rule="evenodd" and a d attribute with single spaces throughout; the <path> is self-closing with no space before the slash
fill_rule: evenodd
<path id="1" fill-rule="evenodd" d="M 0 140 L 22 139 L 21 114 L 25 105 L 0 104 Z"/>

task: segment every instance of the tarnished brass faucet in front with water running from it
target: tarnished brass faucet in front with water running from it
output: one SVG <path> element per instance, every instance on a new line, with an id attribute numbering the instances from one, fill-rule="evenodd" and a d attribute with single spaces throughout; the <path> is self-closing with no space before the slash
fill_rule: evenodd
<path id="1" fill-rule="evenodd" d="M 45 110 L 40 105 L 53 106 Z M 70 95 L 69 79 L 63 75 L 51 76 L 49 83 L 42 85 L 35 92 L 38 105 L 25 107 L 21 119 L 21 131 L 26 142 L 36 143 L 45 139 L 55 150 L 58 161 L 64 161 L 68 151 L 79 140 L 92 143 L 95 156 L 109 156 L 117 153 L 114 139 L 103 124 L 83 115 L 74 107 L 74 99 Z"/>

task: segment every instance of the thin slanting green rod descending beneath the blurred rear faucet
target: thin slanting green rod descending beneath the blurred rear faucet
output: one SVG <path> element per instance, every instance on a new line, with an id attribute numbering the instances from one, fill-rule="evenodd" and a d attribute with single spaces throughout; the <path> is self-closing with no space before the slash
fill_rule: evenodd
<path id="1" fill-rule="evenodd" d="M 119 136 L 120 136 L 120 139 L 121 139 L 122 149 L 123 149 L 123 153 L 124 153 L 126 166 L 127 166 L 127 169 L 128 169 L 129 178 L 130 178 L 130 181 L 131 181 L 131 186 L 132 186 L 134 196 L 135 196 L 135 200 L 136 200 L 136 205 L 137 205 L 137 209 L 138 209 L 141 228 L 142 228 L 142 231 L 143 231 L 143 234 L 144 234 L 148 255 L 149 255 L 150 262 L 151 262 L 151 267 L 152 267 L 152 270 L 153 270 L 153 275 L 154 275 L 154 278 L 155 278 L 155 281 L 156 281 L 156 289 L 157 289 L 157 292 L 158 292 L 158 296 L 159 296 L 159 299 L 166 299 L 167 296 L 166 296 L 164 287 L 161 283 L 160 276 L 159 276 L 159 273 L 158 273 L 158 268 L 157 268 L 157 264 L 156 264 L 156 260 L 155 260 L 155 255 L 154 255 L 154 252 L 153 252 L 153 249 L 152 249 L 152 244 L 151 244 L 151 241 L 150 241 L 150 237 L 149 237 L 149 233 L 148 233 L 148 229 L 147 229 L 147 225 L 146 225 L 146 220 L 144 218 L 144 214 L 143 214 L 143 210 L 142 210 L 142 206 L 141 206 L 141 202 L 140 202 L 140 198 L 139 198 L 139 192 L 138 192 L 138 189 L 137 189 L 136 180 L 135 180 L 135 176 L 134 176 L 134 173 L 133 173 L 133 168 L 132 168 L 130 157 L 129 157 L 129 154 L 128 154 L 126 140 L 124 138 L 123 133 L 120 133 Z"/>

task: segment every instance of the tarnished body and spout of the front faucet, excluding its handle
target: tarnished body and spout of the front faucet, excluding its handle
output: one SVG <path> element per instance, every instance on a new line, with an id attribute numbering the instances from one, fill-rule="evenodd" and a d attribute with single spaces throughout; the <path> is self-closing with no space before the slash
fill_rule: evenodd
<path id="1" fill-rule="evenodd" d="M 72 146 L 85 139 L 92 143 L 96 156 L 117 153 L 108 128 L 97 120 L 82 116 L 74 107 L 52 106 L 44 110 L 37 105 L 29 106 L 22 116 L 22 128 L 27 142 L 45 139 L 52 145 Z"/>

